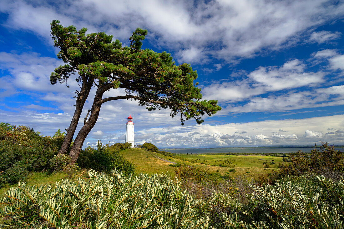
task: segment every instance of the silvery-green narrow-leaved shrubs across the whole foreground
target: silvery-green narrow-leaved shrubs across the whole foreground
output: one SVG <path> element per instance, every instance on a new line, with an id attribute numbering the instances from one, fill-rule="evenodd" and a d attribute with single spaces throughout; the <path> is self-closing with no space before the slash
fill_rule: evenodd
<path id="1" fill-rule="evenodd" d="M 197 199 L 166 175 L 89 171 L 89 180 L 55 186 L 20 183 L 1 201 L 1 227 L 74 228 L 344 228 L 344 181 L 288 177 Z"/>

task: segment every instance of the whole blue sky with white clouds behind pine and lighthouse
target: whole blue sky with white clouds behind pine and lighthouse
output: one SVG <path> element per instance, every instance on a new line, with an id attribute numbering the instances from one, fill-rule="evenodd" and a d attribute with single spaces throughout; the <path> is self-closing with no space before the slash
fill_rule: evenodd
<path id="1" fill-rule="evenodd" d="M 222 107 L 200 125 L 181 126 L 169 110 L 109 101 L 84 148 L 124 142 L 129 115 L 135 143 L 159 148 L 344 144 L 344 1 L 2 0 L 0 122 L 51 136 L 69 126 L 78 88 L 73 77 L 69 88 L 50 85 L 63 64 L 50 37 L 54 19 L 114 35 L 123 46 L 136 28 L 147 29 L 142 48 L 191 64 L 203 99 Z"/>

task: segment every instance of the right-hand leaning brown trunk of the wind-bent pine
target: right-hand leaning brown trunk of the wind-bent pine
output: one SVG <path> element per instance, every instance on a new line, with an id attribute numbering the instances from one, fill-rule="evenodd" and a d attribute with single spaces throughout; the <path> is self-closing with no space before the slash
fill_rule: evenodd
<path id="1" fill-rule="evenodd" d="M 71 164 L 74 164 L 76 160 L 79 157 L 81 148 L 84 144 L 84 141 L 88 135 L 88 133 L 92 130 L 94 125 L 97 122 L 97 119 L 99 117 L 99 111 L 101 107 L 101 103 L 99 102 L 103 97 L 103 92 L 100 92 L 101 90 L 98 88 L 96 95 L 94 97 L 93 105 L 92 105 L 92 111 L 90 114 L 89 119 L 86 121 L 84 126 L 80 129 L 78 135 L 76 136 L 71 152 L 69 153 L 69 156 L 72 158 Z"/>

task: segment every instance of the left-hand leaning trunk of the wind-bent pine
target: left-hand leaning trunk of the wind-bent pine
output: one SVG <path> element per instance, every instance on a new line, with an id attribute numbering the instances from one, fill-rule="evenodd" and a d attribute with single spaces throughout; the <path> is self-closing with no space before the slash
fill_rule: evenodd
<path id="1" fill-rule="evenodd" d="M 86 99 L 88 97 L 88 94 L 92 88 L 93 85 L 93 80 L 88 79 L 88 82 L 83 82 L 83 85 L 80 89 L 80 92 L 78 96 L 76 97 L 76 102 L 75 102 L 75 112 L 71 121 L 71 124 L 69 124 L 69 127 L 66 132 L 66 136 L 63 140 L 62 146 L 60 151 L 58 151 L 58 154 L 64 154 L 67 153 L 69 150 L 69 147 L 71 146 L 73 136 L 76 130 L 76 127 L 78 125 L 79 119 L 81 112 L 83 111 Z"/>

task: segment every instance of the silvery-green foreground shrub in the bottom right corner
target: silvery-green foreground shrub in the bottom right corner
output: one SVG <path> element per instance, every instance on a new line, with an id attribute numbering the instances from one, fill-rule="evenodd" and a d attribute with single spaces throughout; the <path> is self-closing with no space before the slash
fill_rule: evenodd
<path id="1" fill-rule="evenodd" d="M 251 187 L 246 203 L 222 193 L 209 199 L 214 228 L 343 228 L 343 181 L 288 177 Z"/>

